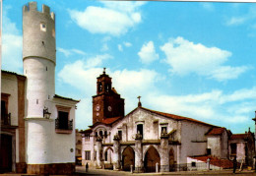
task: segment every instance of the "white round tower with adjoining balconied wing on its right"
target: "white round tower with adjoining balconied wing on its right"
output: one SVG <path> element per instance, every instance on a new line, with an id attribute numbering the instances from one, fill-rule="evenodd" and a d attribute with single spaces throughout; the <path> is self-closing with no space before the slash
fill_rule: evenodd
<path id="1" fill-rule="evenodd" d="M 72 174 L 79 100 L 55 94 L 55 18 L 48 6 L 37 11 L 36 2 L 23 9 L 23 63 L 27 77 L 27 172 Z"/>

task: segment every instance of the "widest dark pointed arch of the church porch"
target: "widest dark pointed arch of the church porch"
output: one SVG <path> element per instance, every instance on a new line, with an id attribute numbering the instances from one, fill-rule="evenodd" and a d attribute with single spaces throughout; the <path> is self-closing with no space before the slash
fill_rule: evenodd
<path id="1" fill-rule="evenodd" d="M 146 172 L 156 172 L 156 164 L 159 163 L 160 170 L 160 153 L 155 147 L 150 147 L 146 152 L 144 165 Z"/>

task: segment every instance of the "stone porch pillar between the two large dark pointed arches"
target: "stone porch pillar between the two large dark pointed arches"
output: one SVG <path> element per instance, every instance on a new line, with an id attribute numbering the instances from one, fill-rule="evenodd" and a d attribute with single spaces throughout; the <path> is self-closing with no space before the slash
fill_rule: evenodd
<path id="1" fill-rule="evenodd" d="M 142 150 L 142 135 L 136 134 L 135 138 L 135 172 L 143 172 L 143 150 Z"/>

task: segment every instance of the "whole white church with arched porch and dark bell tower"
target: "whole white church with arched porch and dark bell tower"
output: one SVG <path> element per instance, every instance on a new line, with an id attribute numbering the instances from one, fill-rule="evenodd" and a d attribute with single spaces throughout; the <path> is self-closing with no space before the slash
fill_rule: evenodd
<path id="1" fill-rule="evenodd" d="M 93 125 L 82 132 L 83 165 L 168 172 L 193 170 L 197 168 L 194 162 L 206 163 L 211 158 L 211 167 L 220 169 L 232 167 L 230 160 L 234 155 L 252 163 L 255 139 L 250 131 L 246 134 L 252 141 L 246 141 L 247 137 L 235 141 L 235 135 L 223 127 L 145 108 L 140 97 L 138 106 L 124 115 L 124 99 L 112 88 L 105 71 L 97 78 L 96 88 Z M 231 148 L 234 144 L 235 149 Z M 250 147 L 250 154 L 245 153 L 246 147 Z M 224 165 L 220 165 L 221 160 Z"/>

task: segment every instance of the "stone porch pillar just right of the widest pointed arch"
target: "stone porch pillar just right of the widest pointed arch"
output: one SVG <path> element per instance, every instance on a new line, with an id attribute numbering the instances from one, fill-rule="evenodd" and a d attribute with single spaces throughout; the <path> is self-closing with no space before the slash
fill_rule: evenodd
<path id="1" fill-rule="evenodd" d="M 160 135 L 160 172 L 169 172 L 168 135 Z"/>

